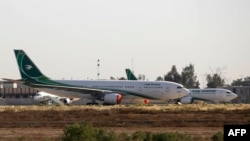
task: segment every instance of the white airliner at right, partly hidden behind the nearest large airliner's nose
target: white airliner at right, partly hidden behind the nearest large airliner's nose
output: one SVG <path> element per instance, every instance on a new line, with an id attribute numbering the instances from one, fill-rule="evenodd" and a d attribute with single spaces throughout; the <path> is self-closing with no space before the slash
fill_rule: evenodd
<path id="1" fill-rule="evenodd" d="M 137 80 L 130 69 L 125 69 L 128 80 Z M 181 103 L 193 103 L 194 100 L 210 101 L 213 103 L 230 102 L 238 95 L 230 90 L 222 88 L 189 89 L 190 93 L 178 101 Z"/>

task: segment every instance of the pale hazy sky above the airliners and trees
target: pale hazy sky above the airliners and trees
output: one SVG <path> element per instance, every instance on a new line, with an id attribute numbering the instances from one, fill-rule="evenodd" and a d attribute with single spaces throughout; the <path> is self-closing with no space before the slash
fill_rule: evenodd
<path id="1" fill-rule="evenodd" d="M 20 78 L 23 49 L 52 79 L 154 81 L 193 64 L 201 87 L 217 72 L 230 84 L 250 76 L 249 25 L 249 0 L 0 0 L 0 78 Z"/>

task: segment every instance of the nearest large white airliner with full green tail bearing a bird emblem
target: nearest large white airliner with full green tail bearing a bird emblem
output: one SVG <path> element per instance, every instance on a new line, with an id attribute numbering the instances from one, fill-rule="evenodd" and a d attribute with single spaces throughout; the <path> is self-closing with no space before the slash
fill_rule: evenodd
<path id="1" fill-rule="evenodd" d="M 3 80 L 23 83 L 38 91 L 62 97 L 86 98 L 87 104 L 121 104 L 122 97 L 142 97 L 168 101 L 188 95 L 183 85 L 168 81 L 129 80 L 52 80 L 45 76 L 23 50 L 14 50 L 21 79 Z"/>

